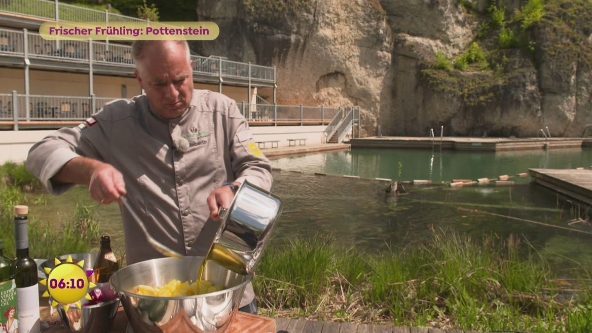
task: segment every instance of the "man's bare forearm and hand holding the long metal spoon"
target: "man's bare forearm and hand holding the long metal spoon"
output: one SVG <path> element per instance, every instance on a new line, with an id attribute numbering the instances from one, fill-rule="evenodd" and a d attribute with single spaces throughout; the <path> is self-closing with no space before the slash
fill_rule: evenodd
<path id="1" fill-rule="evenodd" d="M 88 185 L 88 192 L 94 200 L 102 204 L 118 201 L 126 194 L 126 184 L 123 175 L 111 164 L 86 157 L 70 159 L 53 181 Z"/>

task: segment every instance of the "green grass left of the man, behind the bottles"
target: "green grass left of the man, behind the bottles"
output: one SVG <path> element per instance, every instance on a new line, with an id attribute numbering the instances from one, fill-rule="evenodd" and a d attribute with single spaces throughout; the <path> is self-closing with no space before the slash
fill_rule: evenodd
<path id="1" fill-rule="evenodd" d="M 42 191 L 43 187 L 24 164 L 7 162 L 0 165 L 0 235 L 4 239 L 4 254 L 14 257 L 14 206 L 32 204 L 25 192 Z M 43 201 L 43 196 L 35 203 Z M 70 217 L 61 228 L 51 228 L 49 223 L 29 214 L 28 236 L 30 255 L 33 258 L 50 258 L 57 255 L 88 252 L 99 239 L 99 223 L 92 206 L 76 204 Z"/>

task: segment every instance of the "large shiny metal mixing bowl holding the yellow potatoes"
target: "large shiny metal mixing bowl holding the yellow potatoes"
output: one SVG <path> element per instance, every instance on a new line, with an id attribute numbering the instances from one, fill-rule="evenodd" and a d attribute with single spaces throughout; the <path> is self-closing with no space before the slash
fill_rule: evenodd
<path id="1" fill-rule="evenodd" d="M 159 258 L 118 270 L 109 281 L 120 294 L 134 332 L 226 332 L 239 309 L 244 287 L 253 277 L 227 270 L 213 261 L 205 265 L 204 279 L 225 289 L 184 297 L 135 294 L 139 284 L 157 287 L 170 280 L 197 280 L 204 257 Z"/>

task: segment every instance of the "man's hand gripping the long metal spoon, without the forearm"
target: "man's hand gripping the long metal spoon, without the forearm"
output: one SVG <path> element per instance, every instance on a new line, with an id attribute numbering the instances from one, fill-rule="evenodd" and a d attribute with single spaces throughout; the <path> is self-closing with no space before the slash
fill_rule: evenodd
<path id="1" fill-rule="evenodd" d="M 110 204 L 118 201 L 122 194 L 126 194 L 126 184 L 123 175 L 111 164 L 97 165 L 91 174 L 88 184 L 88 193 L 96 201 L 102 204 Z"/>

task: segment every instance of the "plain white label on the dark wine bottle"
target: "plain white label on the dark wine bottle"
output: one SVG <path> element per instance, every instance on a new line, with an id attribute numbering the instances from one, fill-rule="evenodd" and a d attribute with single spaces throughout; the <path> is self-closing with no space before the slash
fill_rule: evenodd
<path id="1" fill-rule="evenodd" d="M 17 288 L 18 333 L 40 332 L 39 286 Z"/>

